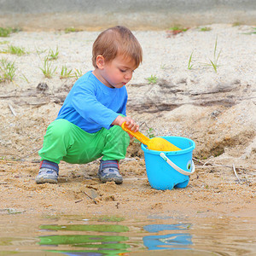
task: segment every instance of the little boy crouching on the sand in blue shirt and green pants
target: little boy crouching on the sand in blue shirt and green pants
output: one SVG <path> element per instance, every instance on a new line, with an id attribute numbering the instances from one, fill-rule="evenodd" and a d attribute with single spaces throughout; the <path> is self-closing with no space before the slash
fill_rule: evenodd
<path id="1" fill-rule="evenodd" d="M 126 117 L 127 84 L 143 60 L 137 38 L 124 26 L 115 26 L 96 38 L 92 49 L 94 71 L 73 85 L 57 118 L 47 128 L 36 183 L 57 183 L 61 160 L 85 164 L 102 157 L 98 177 L 105 183 L 123 182 L 119 160 L 125 158 L 130 137 L 122 123 L 138 131 Z"/>

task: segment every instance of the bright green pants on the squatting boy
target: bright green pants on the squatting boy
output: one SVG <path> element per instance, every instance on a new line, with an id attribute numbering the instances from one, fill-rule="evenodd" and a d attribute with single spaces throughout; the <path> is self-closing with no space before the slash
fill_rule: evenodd
<path id="1" fill-rule="evenodd" d="M 56 119 L 48 126 L 43 148 L 38 154 L 41 160 L 57 164 L 61 160 L 86 164 L 100 157 L 102 160 L 120 160 L 125 158 L 129 143 L 129 135 L 118 125 L 88 133 L 66 119 Z"/>

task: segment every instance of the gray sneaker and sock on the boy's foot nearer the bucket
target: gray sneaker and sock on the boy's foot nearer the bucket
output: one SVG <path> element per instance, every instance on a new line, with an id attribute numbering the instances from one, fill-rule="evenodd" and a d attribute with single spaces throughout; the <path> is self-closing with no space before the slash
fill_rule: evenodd
<path id="1" fill-rule="evenodd" d="M 119 173 L 119 162 L 117 160 L 101 160 L 98 177 L 102 183 L 115 182 L 123 183 L 123 177 Z"/>

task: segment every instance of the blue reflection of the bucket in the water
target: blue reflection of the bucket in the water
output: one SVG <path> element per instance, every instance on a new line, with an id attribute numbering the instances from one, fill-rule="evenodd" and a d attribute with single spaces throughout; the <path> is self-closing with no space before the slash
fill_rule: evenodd
<path id="1" fill-rule="evenodd" d="M 188 232 L 175 232 L 169 230 L 188 230 L 191 224 L 150 224 L 144 226 L 144 230 L 150 233 L 168 231 L 166 235 L 144 236 L 143 243 L 148 250 L 160 249 L 188 249 L 192 245 L 192 235 Z"/>

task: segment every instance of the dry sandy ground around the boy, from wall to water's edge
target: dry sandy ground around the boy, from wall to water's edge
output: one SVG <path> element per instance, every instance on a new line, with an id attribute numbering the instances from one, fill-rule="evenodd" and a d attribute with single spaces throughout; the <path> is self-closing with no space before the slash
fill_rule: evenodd
<path id="1" fill-rule="evenodd" d="M 98 32 L 18 32 L 0 38 L 2 51 L 9 45 L 26 50 L 20 56 L 0 53 L 17 67 L 14 82 L 0 83 L 0 213 L 253 217 L 256 35 L 247 34 L 251 26 L 209 27 L 176 36 L 134 32 L 144 60 L 128 85 L 128 113 L 144 133 L 154 128 L 155 136 L 189 137 L 196 143 L 196 172 L 189 186 L 166 191 L 150 187 L 143 152 L 134 142 L 120 164 L 122 185 L 99 182 L 98 160 L 82 166 L 61 163 L 58 184 L 35 184 L 44 133 L 76 80 L 60 79 L 61 67 L 73 73 L 92 69 L 91 46 Z M 210 60 L 217 37 L 216 53 L 221 53 L 215 73 Z M 56 70 L 46 79 L 39 67 L 56 48 L 58 58 L 50 62 Z M 148 84 L 151 76 L 156 84 Z M 48 90 L 39 90 L 40 83 Z"/>

